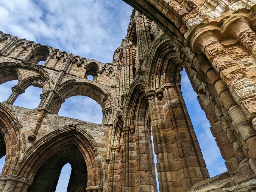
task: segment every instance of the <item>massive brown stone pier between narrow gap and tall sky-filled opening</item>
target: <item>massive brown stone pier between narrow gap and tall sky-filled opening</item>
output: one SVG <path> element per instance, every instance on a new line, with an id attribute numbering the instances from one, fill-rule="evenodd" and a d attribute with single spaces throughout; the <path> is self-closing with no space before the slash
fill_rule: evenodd
<path id="1" fill-rule="evenodd" d="M 188 191 L 209 177 L 193 127 L 175 85 L 146 94 L 161 192 Z M 158 96 L 158 98 L 157 98 Z"/>

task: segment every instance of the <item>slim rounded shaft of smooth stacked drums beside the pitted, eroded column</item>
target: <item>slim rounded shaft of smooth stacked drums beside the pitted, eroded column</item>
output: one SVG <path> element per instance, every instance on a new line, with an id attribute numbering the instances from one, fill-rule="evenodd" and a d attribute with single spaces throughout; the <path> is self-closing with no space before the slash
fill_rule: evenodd
<path id="1" fill-rule="evenodd" d="M 227 110 L 228 114 L 230 115 L 232 121 L 235 124 L 236 132 L 238 132 L 241 137 L 243 138 L 244 142 L 247 143 L 249 148 L 249 154 L 250 157 L 248 158 L 249 162 L 256 162 L 255 161 L 255 153 L 256 150 L 253 147 L 256 142 L 256 132 L 253 129 L 251 123 L 246 118 L 245 114 L 239 107 L 238 103 L 233 99 L 232 95 L 230 94 L 230 91 L 228 90 L 227 86 L 223 83 L 220 76 L 217 74 L 213 66 L 206 60 L 197 60 L 193 61 L 194 68 L 196 68 L 197 71 L 202 71 L 205 73 L 205 75 L 209 79 L 209 84 L 211 84 L 215 89 L 216 93 L 218 95 L 218 98 L 221 102 L 221 104 L 224 106 L 224 108 Z M 225 129 L 227 128 L 227 129 Z M 232 134 L 229 127 L 223 127 L 225 132 L 227 133 L 227 136 L 230 139 L 231 143 L 234 143 L 235 141 L 232 139 Z M 243 148 L 244 150 L 246 150 Z M 244 151 L 246 154 L 247 151 Z M 252 158 L 250 160 L 250 158 Z M 255 170 L 255 165 L 251 163 L 251 167 L 253 170 Z"/>

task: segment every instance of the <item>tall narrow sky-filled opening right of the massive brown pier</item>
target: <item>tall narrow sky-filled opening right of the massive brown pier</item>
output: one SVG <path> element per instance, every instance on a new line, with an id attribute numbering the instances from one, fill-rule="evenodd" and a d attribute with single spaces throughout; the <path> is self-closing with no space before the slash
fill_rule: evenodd
<path id="1" fill-rule="evenodd" d="M 182 95 L 197 135 L 210 177 L 227 171 L 224 159 L 222 159 L 219 148 L 216 145 L 216 141 L 209 129 L 211 125 L 205 116 L 205 112 L 201 109 L 198 100 L 196 99 L 197 94 L 194 92 L 185 70 L 181 71 L 181 91 L 183 92 Z"/>

